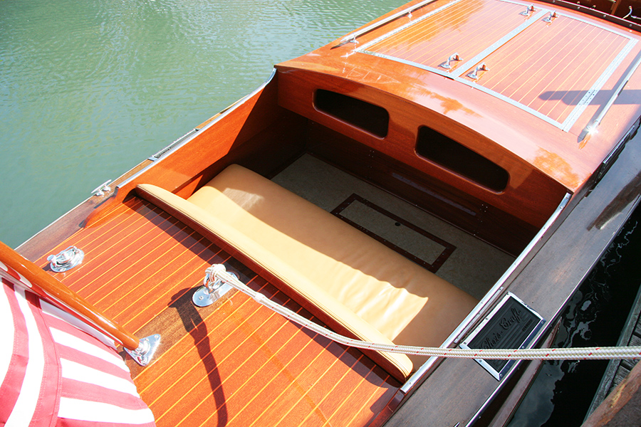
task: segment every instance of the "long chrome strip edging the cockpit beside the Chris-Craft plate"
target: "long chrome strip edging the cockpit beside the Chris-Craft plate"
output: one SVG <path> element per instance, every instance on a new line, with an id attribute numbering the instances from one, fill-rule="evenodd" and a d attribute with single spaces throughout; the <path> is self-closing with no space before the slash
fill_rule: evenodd
<path id="1" fill-rule="evenodd" d="M 465 317 L 465 319 L 463 320 L 463 322 L 459 324 L 457 329 L 455 329 L 454 332 L 452 332 L 452 334 L 449 334 L 449 337 L 447 337 L 447 339 L 445 340 L 445 342 L 443 342 L 441 347 L 447 348 L 452 344 L 459 342 L 462 335 L 465 332 L 467 332 L 469 327 L 473 325 L 476 322 L 476 320 L 479 319 L 479 317 L 481 317 L 481 314 L 484 312 L 485 307 L 488 305 L 491 305 L 491 303 L 494 302 L 494 300 L 496 300 L 496 298 L 499 297 L 501 290 L 503 290 L 503 286 L 506 280 L 508 280 L 510 275 L 514 273 L 516 268 L 518 268 L 518 265 L 520 265 L 523 262 L 523 260 L 526 258 L 526 256 L 532 251 L 534 246 L 536 246 L 536 243 L 541 241 L 541 238 L 543 238 L 543 235 L 546 233 L 546 231 L 548 231 L 548 229 L 556 221 L 558 216 L 561 215 L 561 211 L 563 211 L 563 209 L 567 206 L 571 196 L 572 195 L 570 193 L 566 193 L 566 196 L 563 197 L 563 200 L 561 200 L 561 203 L 558 204 L 558 206 L 556 207 L 556 210 L 553 212 L 550 218 L 548 218 L 548 221 L 546 221 L 546 223 L 543 224 L 543 227 L 541 228 L 541 230 L 539 230 L 538 233 L 536 233 L 536 236 L 534 236 L 534 238 L 530 241 L 530 243 L 528 243 L 528 246 L 526 246 L 526 248 L 523 249 L 523 252 L 521 252 L 516 258 L 516 260 L 514 260 L 514 263 L 510 265 L 510 267 L 506 270 L 506 272 L 503 273 L 501 278 L 499 278 L 499 280 L 485 294 L 485 296 L 479 301 L 479 303 L 476 304 L 476 307 L 474 307 L 474 309 L 471 312 L 469 312 L 469 315 Z M 535 338 L 534 342 L 536 342 L 536 339 L 538 339 L 538 337 Z M 417 371 L 414 374 L 412 374 L 412 376 L 410 376 L 410 378 L 407 379 L 407 381 L 405 381 L 405 384 L 401 386 L 400 391 L 402 391 L 402 393 L 407 394 L 407 392 L 410 391 L 410 389 L 412 389 L 412 387 L 417 383 L 417 381 L 419 381 L 419 379 L 421 379 L 421 377 L 427 371 L 429 371 L 429 369 L 432 369 L 432 366 L 437 362 L 438 359 L 439 359 L 438 357 L 430 357 L 429 359 L 427 359 L 427 362 L 422 364 L 422 366 L 419 369 L 417 369 Z M 513 369 L 516 368 L 517 365 L 518 364 L 514 364 Z"/>

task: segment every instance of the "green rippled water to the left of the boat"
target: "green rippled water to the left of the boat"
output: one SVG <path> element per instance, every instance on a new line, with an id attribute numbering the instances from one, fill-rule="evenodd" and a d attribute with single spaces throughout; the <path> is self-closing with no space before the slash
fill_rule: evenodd
<path id="1" fill-rule="evenodd" d="M 0 0 L 0 241 L 19 246 L 403 0 Z"/>

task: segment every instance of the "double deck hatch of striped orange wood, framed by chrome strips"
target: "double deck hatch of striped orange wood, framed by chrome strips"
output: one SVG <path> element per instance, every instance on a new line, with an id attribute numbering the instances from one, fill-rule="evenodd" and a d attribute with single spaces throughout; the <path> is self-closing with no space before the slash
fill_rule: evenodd
<path id="1" fill-rule="evenodd" d="M 356 51 L 452 78 L 569 132 L 588 106 L 596 115 L 616 96 L 637 41 L 553 5 L 528 6 L 454 0 Z"/>

